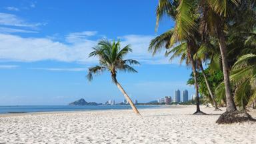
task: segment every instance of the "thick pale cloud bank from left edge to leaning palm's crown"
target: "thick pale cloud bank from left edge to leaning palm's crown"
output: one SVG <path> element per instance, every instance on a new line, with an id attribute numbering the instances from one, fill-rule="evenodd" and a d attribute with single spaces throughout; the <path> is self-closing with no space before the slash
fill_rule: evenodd
<path id="1" fill-rule="evenodd" d="M 0 59 L 7 61 L 81 61 L 90 62 L 88 54 L 97 42 L 65 45 L 47 38 L 23 38 L 0 34 Z"/>

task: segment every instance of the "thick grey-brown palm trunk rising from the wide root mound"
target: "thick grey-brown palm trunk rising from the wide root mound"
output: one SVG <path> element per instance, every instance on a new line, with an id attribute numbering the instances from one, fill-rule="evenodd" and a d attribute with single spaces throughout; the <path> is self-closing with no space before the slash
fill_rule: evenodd
<path id="1" fill-rule="evenodd" d="M 219 33 L 219 49 L 221 51 L 222 67 L 223 67 L 223 75 L 224 75 L 224 83 L 225 83 L 225 93 L 226 93 L 226 102 L 227 102 L 226 111 L 232 112 L 232 111 L 236 111 L 237 107 L 235 107 L 233 94 L 231 92 L 231 84 L 229 80 L 229 67 L 227 64 L 227 47 L 225 44 L 225 37 L 223 33 Z"/>

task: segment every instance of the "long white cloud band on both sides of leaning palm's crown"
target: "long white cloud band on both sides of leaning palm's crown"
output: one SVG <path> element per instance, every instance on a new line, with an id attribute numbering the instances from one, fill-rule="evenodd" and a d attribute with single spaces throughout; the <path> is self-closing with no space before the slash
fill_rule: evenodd
<path id="1" fill-rule="evenodd" d="M 5 61 L 44 61 L 55 60 L 65 62 L 77 62 L 91 65 L 97 63 L 96 57 L 88 57 L 92 47 L 98 40 L 89 40 L 96 35 L 96 31 L 83 31 L 71 33 L 66 39 L 73 37 L 73 43 L 67 45 L 49 37 L 24 38 L 17 35 L 0 34 L 0 59 Z M 122 47 L 131 44 L 133 53 L 127 55 L 127 59 L 137 59 L 141 63 L 167 64 L 169 60 L 163 53 L 152 57 L 147 47 L 152 35 L 125 35 L 119 37 Z M 76 39 L 76 40 L 75 40 Z M 78 39 L 78 40 L 77 40 Z M 70 42 L 70 41 L 69 41 Z M 175 61 L 174 61 L 175 63 Z"/>

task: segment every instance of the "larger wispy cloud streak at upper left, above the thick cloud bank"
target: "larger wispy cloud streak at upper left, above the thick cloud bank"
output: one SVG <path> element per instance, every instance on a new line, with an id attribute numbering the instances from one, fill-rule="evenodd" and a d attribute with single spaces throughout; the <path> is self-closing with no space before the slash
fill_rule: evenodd
<path id="1" fill-rule="evenodd" d="M 9 13 L 0 13 L 0 25 L 15 26 L 15 27 L 31 27 L 35 28 L 43 23 L 27 23 L 16 15 Z"/>

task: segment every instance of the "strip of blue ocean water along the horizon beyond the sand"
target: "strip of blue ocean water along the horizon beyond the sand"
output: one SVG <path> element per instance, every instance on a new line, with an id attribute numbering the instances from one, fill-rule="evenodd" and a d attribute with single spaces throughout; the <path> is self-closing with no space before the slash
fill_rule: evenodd
<path id="1" fill-rule="evenodd" d="M 137 105 L 137 109 L 160 108 L 159 105 Z M 130 105 L 90 105 L 90 106 L 69 106 L 69 105 L 21 105 L 21 106 L 0 106 L 0 113 L 31 113 L 51 111 L 91 111 L 108 109 L 131 109 Z"/>

